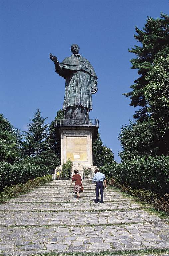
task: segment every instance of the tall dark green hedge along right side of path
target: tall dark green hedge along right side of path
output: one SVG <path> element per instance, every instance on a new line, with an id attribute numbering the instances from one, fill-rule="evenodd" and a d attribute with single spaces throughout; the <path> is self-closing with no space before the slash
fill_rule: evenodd
<path id="1" fill-rule="evenodd" d="M 149 156 L 99 168 L 107 177 L 126 187 L 151 190 L 159 195 L 169 191 L 169 157 Z"/>

